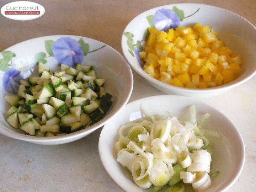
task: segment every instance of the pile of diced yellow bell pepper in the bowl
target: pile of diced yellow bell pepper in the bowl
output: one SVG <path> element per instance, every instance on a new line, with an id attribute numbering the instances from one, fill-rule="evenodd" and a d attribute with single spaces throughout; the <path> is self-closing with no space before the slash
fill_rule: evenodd
<path id="1" fill-rule="evenodd" d="M 241 56 L 233 53 L 218 39 L 218 32 L 197 23 L 169 31 L 148 28 L 144 51 L 144 71 L 167 84 L 186 88 L 209 88 L 227 84 L 236 78 L 242 64 Z"/>

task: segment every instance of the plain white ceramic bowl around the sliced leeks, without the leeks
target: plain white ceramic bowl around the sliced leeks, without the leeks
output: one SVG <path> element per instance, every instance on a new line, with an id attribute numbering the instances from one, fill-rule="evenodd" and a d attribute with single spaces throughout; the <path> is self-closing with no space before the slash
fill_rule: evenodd
<path id="1" fill-rule="evenodd" d="M 117 132 L 120 126 L 142 118 L 140 105 L 144 103 L 154 115 L 166 114 L 170 111 L 181 121 L 190 119 L 188 107 L 196 106 L 197 119 L 208 112 L 209 119 L 203 129 L 219 133 L 219 137 L 206 137 L 214 143 L 211 172 L 219 170 L 219 174 L 212 178 L 212 185 L 207 191 L 225 191 L 239 177 L 245 161 L 245 146 L 241 134 L 235 125 L 223 113 L 215 108 L 192 98 L 173 95 L 161 95 L 139 99 L 126 105 L 120 113 L 103 127 L 99 139 L 99 154 L 103 166 L 110 177 L 123 190 L 128 192 L 150 191 L 139 188 L 132 179 L 131 173 L 116 161 L 114 143 L 117 142 Z M 139 120 L 137 120 L 139 121 Z M 186 191 L 191 188 L 186 186 Z"/>

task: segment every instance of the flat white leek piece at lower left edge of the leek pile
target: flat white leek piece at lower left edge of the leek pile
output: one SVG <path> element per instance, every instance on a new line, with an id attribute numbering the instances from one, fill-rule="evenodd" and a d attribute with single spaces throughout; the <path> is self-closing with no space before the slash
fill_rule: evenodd
<path id="1" fill-rule="evenodd" d="M 134 153 L 129 153 L 126 150 L 123 150 L 119 156 L 117 157 L 117 161 L 124 167 L 127 167 L 128 170 L 132 170 L 132 166 L 136 159 L 138 158 L 138 155 Z"/>

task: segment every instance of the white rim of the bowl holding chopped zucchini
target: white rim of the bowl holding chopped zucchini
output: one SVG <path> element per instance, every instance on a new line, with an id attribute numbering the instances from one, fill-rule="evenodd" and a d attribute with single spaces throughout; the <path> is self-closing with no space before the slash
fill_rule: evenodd
<path id="1" fill-rule="evenodd" d="M 110 48 L 113 52 L 117 53 L 117 55 L 119 57 L 123 58 L 123 63 L 125 65 L 127 65 L 127 73 L 129 74 L 129 78 L 130 78 L 130 84 L 128 85 L 129 86 L 129 92 L 127 93 L 126 99 L 121 103 L 120 107 L 116 110 L 116 112 L 112 116 L 108 117 L 105 120 L 100 120 L 99 122 L 95 123 L 94 125 L 92 125 L 92 126 L 90 126 L 88 128 L 84 128 L 82 130 L 79 130 L 77 132 L 73 132 L 73 133 L 69 133 L 69 134 L 66 134 L 66 135 L 59 135 L 59 136 L 48 137 L 47 138 L 47 137 L 36 137 L 36 136 L 33 136 L 33 135 L 26 135 L 26 134 L 22 134 L 22 133 L 17 133 L 17 132 L 12 131 L 11 129 L 8 128 L 9 130 L 0 129 L 0 133 L 1 134 L 5 135 L 7 137 L 10 137 L 10 138 L 14 138 L 14 139 L 18 139 L 18 140 L 23 140 L 23 141 L 27 141 L 27 142 L 43 142 L 43 143 L 57 142 L 57 141 L 69 140 L 69 139 L 76 138 L 76 137 L 81 137 L 81 136 L 83 136 L 83 135 L 85 135 L 87 133 L 90 134 L 90 133 L 94 132 L 96 129 L 98 129 L 98 128 L 102 127 L 104 124 L 106 124 L 114 116 L 116 116 L 116 114 L 118 114 L 123 109 L 123 107 L 126 105 L 126 103 L 129 101 L 130 96 L 132 94 L 132 90 L 133 90 L 133 74 L 132 74 L 132 69 L 128 65 L 127 61 L 124 59 L 123 55 L 120 54 L 113 47 L 109 46 L 108 44 L 103 43 L 101 41 L 98 41 L 96 39 L 89 38 L 89 37 L 77 36 L 77 35 L 67 35 L 67 34 L 36 37 L 36 38 L 32 38 L 32 39 L 27 39 L 27 40 L 22 41 L 22 42 L 17 43 L 17 44 L 25 43 L 26 41 L 37 40 L 37 39 L 44 38 L 44 37 L 54 37 L 54 36 L 55 37 L 66 36 L 66 37 L 82 37 L 82 38 L 87 38 L 87 39 L 90 39 L 92 41 L 96 41 L 98 43 L 105 44 L 106 47 Z M 13 45 L 11 47 L 8 47 L 5 50 L 13 48 L 17 44 L 15 44 L 15 45 Z"/>

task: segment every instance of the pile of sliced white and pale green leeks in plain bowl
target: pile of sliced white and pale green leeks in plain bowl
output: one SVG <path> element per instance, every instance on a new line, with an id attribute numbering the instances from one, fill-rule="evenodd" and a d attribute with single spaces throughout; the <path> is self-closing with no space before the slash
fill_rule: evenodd
<path id="1" fill-rule="evenodd" d="M 209 114 L 197 124 L 193 105 L 190 122 L 178 121 L 174 116 L 153 116 L 143 105 L 141 109 L 150 121 L 126 124 L 119 129 L 117 161 L 127 167 L 141 188 L 154 187 L 158 191 L 168 183 L 166 192 L 182 192 L 183 183 L 191 183 L 195 191 L 205 191 L 211 185 L 212 150 L 200 128 Z"/>

